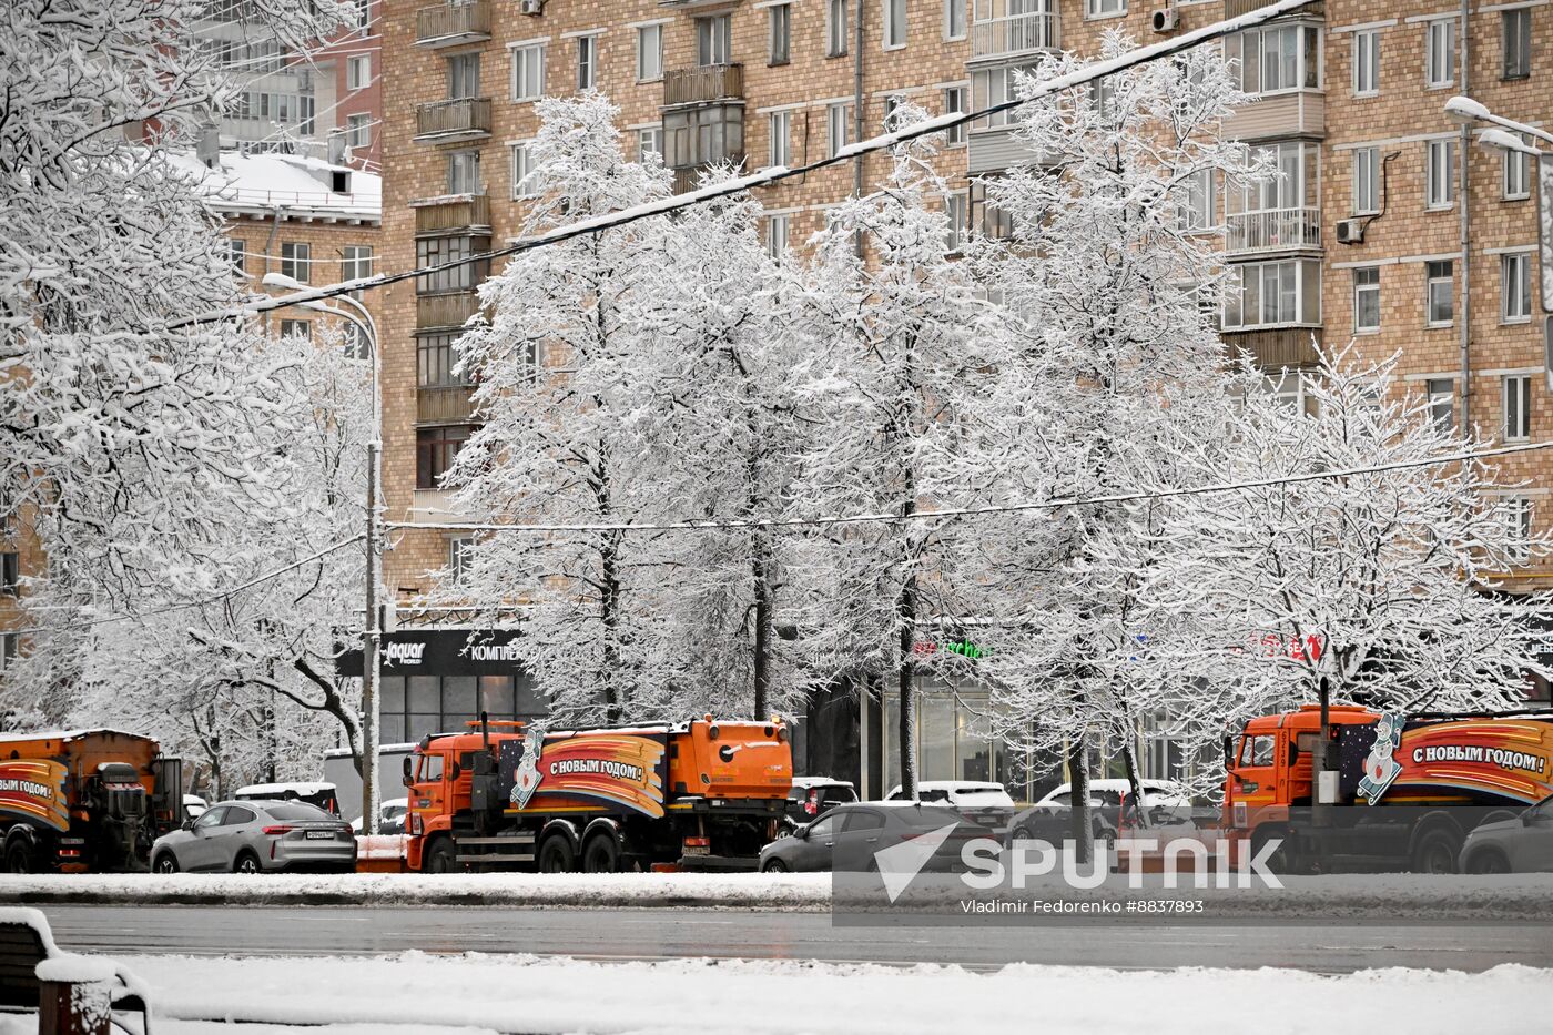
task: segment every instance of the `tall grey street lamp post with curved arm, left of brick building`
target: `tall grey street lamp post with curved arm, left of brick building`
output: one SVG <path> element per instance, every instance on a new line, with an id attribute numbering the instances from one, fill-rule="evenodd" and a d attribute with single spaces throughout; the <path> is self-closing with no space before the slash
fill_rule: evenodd
<path id="1" fill-rule="evenodd" d="M 266 288 L 301 291 L 304 284 L 283 274 L 266 274 Z M 377 726 L 380 699 L 377 684 L 382 668 L 384 608 L 379 600 L 382 583 L 382 514 L 379 496 L 382 486 L 382 351 L 377 348 L 377 322 L 356 298 L 337 295 L 349 309 L 303 301 L 304 309 L 326 312 L 348 322 L 367 337 L 373 361 L 373 437 L 367 443 L 367 620 L 362 628 L 362 833 L 377 833 Z"/>

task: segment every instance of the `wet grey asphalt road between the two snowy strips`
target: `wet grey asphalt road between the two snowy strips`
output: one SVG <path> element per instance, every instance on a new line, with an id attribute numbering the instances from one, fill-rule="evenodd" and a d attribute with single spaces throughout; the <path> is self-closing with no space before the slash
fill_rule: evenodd
<path id="1" fill-rule="evenodd" d="M 1117 968 L 1553 965 L 1553 925 L 836 926 L 749 909 L 231 908 L 45 904 L 62 948 L 116 954 L 534 953 Z"/>

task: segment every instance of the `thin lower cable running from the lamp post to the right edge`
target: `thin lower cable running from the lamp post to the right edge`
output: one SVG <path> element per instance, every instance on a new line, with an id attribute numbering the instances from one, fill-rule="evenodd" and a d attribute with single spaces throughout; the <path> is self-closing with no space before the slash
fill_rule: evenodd
<path id="1" fill-rule="evenodd" d="M 1194 485 L 1188 488 L 1148 490 L 1143 493 L 1115 493 L 1110 496 L 1068 496 L 1022 504 L 989 504 L 985 507 L 946 507 L 943 510 L 919 510 L 910 514 L 873 513 L 873 514 L 832 514 L 828 518 L 770 518 L 770 519 L 714 519 L 714 521 L 674 521 L 666 524 L 632 524 L 632 522 L 601 522 L 575 525 L 519 525 L 500 522 L 433 522 L 433 521 L 388 521 L 390 528 L 435 528 L 441 531 L 716 531 L 721 528 L 811 528 L 825 525 L 862 525 L 862 524 L 904 524 L 915 521 L 938 521 L 943 518 L 974 518 L 977 514 L 1011 514 L 1031 510 L 1062 510 L 1065 507 L 1095 507 L 1101 504 L 1134 504 L 1149 499 L 1177 499 L 1183 496 L 1208 496 L 1214 493 L 1242 493 L 1255 488 L 1272 488 L 1277 485 L 1298 485 L 1301 482 L 1323 482 L 1334 479 L 1357 477 L 1362 474 L 1387 474 L 1390 471 L 1409 471 L 1413 468 L 1432 468 L 1446 463 L 1464 463 L 1469 460 L 1485 460 L 1488 457 L 1508 457 L 1536 449 L 1553 449 L 1553 440 L 1522 443 L 1519 446 L 1496 446 L 1494 449 L 1477 449 L 1472 452 L 1457 452 L 1443 457 L 1424 457 L 1421 460 L 1396 460 L 1393 463 L 1378 463 L 1368 468 L 1346 468 L 1342 471 L 1312 471 L 1309 474 L 1284 474 L 1273 479 L 1258 479 L 1253 482 L 1218 482 L 1213 485 Z"/>

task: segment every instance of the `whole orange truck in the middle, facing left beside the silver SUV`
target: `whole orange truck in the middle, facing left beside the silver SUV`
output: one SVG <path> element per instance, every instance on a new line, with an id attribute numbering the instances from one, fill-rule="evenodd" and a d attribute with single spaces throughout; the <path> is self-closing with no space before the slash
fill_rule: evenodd
<path id="1" fill-rule="evenodd" d="M 427 737 L 404 761 L 412 870 L 755 869 L 792 786 L 778 720 L 551 734 L 471 726 Z"/>

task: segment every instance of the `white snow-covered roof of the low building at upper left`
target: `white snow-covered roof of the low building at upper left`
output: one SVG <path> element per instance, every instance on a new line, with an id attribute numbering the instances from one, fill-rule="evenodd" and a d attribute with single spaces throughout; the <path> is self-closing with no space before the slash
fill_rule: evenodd
<path id="1" fill-rule="evenodd" d="M 193 152 L 169 152 L 166 160 L 205 188 L 222 211 L 264 214 L 284 208 L 297 214 L 371 221 L 382 216 L 382 177 L 343 165 L 238 151 L 222 151 L 217 168 L 205 168 Z M 346 174 L 348 193 L 329 190 L 335 172 Z"/>

